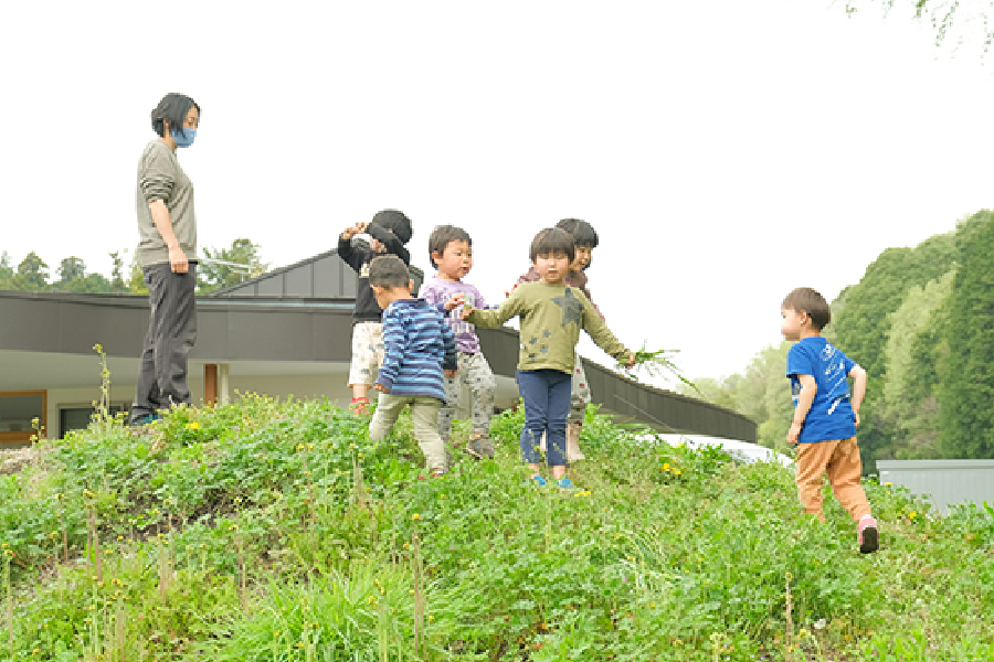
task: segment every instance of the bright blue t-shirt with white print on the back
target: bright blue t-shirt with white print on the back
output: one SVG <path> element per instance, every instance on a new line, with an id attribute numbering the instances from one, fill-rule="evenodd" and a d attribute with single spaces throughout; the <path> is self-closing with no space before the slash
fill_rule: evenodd
<path id="1" fill-rule="evenodd" d="M 797 375 L 812 375 L 818 389 L 801 427 L 799 444 L 848 439 L 856 435 L 856 415 L 849 404 L 849 371 L 856 362 L 816 335 L 797 342 L 787 352 L 787 377 L 794 407 L 801 396 Z"/>

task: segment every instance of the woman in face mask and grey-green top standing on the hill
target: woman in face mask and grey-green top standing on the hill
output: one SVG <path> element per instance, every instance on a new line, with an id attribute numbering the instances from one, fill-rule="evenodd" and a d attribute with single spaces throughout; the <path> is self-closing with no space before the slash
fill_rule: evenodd
<path id="1" fill-rule="evenodd" d="M 187 355 L 197 340 L 193 184 L 176 149 L 193 145 L 200 106 L 186 95 L 167 94 L 151 111 L 151 125 L 159 137 L 138 161 L 136 193 L 138 261 L 150 311 L 131 425 L 150 423 L 159 409 L 190 403 Z"/>

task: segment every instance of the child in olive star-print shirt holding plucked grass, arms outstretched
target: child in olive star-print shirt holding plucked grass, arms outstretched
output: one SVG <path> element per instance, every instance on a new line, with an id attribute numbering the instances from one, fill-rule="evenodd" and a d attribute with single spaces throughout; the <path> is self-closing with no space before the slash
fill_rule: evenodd
<path id="1" fill-rule="evenodd" d="M 573 484 L 565 476 L 565 429 L 580 330 L 618 362 L 632 365 L 635 356 L 607 329 L 586 295 L 564 282 L 575 257 L 570 233 L 559 227 L 541 231 L 531 242 L 529 257 L 539 274 L 538 281 L 515 288 L 496 310 L 464 306 L 463 319 L 490 328 L 512 317 L 521 318 L 516 374 L 525 404 L 521 455 L 532 480 L 546 484 L 538 465 L 538 445 L 544 433 L 552 478 L 560 488 L 571 489 Z"/>

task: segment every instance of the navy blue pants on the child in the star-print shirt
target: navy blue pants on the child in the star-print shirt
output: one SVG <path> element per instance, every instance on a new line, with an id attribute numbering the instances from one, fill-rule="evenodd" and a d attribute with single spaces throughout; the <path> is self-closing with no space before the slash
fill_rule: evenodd
<path id="1" fill-rule="evenodd" d="M 538 445 L 546 433 L 550 467 L 564 467 L 565 427 L 570 415 L 570 391 L 573 376 L 558 370 L 519 370 L 518 391 L 525 403 L 525 428 L 521 430 L 521 457 L 529 465 L 539 462 Z"/>

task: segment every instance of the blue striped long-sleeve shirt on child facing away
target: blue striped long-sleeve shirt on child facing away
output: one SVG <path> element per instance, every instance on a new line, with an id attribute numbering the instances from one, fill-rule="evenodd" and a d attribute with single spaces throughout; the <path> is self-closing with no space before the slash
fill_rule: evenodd
<path id="1" fill-rule="evenodd" d="M 456 370 L 452 327 L 424 299 L 398 299 L 383 311 L 383 365 L 377 384 L 391 395 L 427 395 L 445 402 L 442 370 Z"/>

